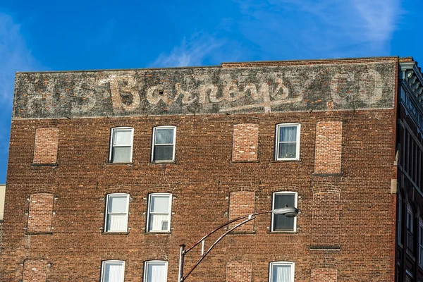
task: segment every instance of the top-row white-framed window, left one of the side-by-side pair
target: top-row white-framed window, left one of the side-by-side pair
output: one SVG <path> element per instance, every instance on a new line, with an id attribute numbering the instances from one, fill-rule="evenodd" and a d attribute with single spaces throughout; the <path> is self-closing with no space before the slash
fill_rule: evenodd
<path id="1" fill-rule="evenodd" d="M 130 163 L 133 151 L 133 128 L 112 128 L 110 137 L 111 163 Z"/>

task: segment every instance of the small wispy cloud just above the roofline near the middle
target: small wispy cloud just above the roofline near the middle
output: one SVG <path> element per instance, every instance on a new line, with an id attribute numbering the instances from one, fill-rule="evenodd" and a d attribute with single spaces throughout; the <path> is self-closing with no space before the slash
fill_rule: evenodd
<path id="1" fill-rule="evenodd" d="M 204 60 L 219 53 L 219 49 L 226 42 L 226 39 L 218 39 L 205 33 L 196 33 L 188 40 L 184 37 L 180 45 L 174 47 L 170 54 L 161 53 L 149 67 L 200 66 Z"/>

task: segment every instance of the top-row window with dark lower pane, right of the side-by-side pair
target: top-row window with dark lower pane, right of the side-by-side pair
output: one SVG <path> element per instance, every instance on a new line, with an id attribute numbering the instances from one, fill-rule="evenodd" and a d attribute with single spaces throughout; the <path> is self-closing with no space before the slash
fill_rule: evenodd
<path id="1" fill-rule="evenodd" d="M 153 130 L 152 162 L 175 160 L 176 127 L 159 126 Z"/>

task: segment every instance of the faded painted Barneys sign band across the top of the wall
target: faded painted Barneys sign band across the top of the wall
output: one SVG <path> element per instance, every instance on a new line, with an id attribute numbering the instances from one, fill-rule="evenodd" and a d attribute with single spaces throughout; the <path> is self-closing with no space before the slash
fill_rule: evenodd
<path id="1" fill-rule="evenodd" d="M 13 118 L 391 109 L 395 62 L 18 73 Z"/>

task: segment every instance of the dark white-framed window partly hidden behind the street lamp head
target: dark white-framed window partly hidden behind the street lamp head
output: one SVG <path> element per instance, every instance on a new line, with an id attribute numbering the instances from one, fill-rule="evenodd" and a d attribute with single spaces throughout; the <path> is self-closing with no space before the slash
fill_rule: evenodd
<path id="1" fill-rule="evenodd" d="M 272 209 L 281 207 L 297 207 L 297 192 L 274 192 Z M 272 214 L 271 231 L 295 231 L 296 217 L 286 217 L 283 214 Z"/>

